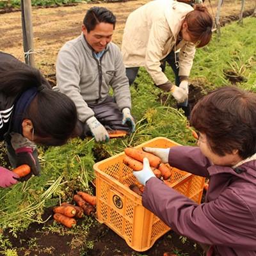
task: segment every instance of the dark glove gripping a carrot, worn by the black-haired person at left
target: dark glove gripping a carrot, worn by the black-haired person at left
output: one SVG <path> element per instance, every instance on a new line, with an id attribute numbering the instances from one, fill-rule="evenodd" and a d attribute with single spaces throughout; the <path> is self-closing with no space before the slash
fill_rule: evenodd
<path id="1" fill-rule="evenodd" d="M 26 175 L 25 177 L 20 178 L 20 181 L 28 180 L 31 175 L 39 176 L 40 175 L 40 164 L 38 161 L 37 150 L 33 150 L 31 147 L 21 147 L 15 150 L 17 166 L 22 164 L 28 164 L 31 168 L 31 173 Z"/>

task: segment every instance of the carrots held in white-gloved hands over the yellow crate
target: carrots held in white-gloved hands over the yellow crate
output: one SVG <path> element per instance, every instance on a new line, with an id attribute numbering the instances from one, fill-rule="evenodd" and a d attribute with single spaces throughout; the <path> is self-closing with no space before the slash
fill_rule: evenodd
<path id="1" fill-rule="evenodd" d="M 161 162 L 161 159 L 154 154 L 145 152 L 138 148 L 125 148 L 124 164 L 132 168 L 134 171 L 143 169 L 143 158 L 147 157 L 152 171 L 156 177 L 163 180 L 170 180 L 172 176 L 172 169 Z"/>

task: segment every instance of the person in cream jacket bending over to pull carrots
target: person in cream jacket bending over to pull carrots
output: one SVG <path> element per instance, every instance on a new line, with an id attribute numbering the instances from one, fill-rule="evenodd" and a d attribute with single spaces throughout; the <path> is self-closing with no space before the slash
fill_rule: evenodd
<path id="1" fill-rule="evenodd" d="M 188 78 L 195 47 L 209 43 L 213 24 L 205 6 L 195 4 L 194 8 L 173 0 L 154 0 L 129 15 L 124 28 L 122 56 L 130 85 L 139 67 L 145 67 L 156 86 L 171 92 L 181 106 L 188 106 Z M 180 50 L 179 58 L 177 50 Z M 161 68 L 164 61 L 175 73 L 175 84 Z"/>

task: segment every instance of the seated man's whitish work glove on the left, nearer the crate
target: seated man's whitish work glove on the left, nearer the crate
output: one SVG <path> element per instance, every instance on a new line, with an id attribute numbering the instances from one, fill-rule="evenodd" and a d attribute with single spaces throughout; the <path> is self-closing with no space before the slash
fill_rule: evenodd
<path id="1" fill-rule="evenodd" d="M 100 122 L 95 118 L 95 116 L 92 116 L 86 121 L 86 124 L 88 124 L 92 136 L 95 138 L 95 140 L 98 141 L 108 141 L 109 140 L 109 134 L 108 131 L 105 129 L 105 127 L 100 124 Z"/>

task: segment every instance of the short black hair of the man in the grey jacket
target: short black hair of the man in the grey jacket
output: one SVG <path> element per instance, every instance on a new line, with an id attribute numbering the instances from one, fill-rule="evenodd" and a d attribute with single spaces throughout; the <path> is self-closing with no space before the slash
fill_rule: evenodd
<path id="1" fill-rule="evenodd" d="M 104 7 L 93 6 L 84 16 L 83 24 L 88 32 L 95 29 L 100 22 L 113 24 L 115 29 L 116 17 L 111 11 Z"/>

